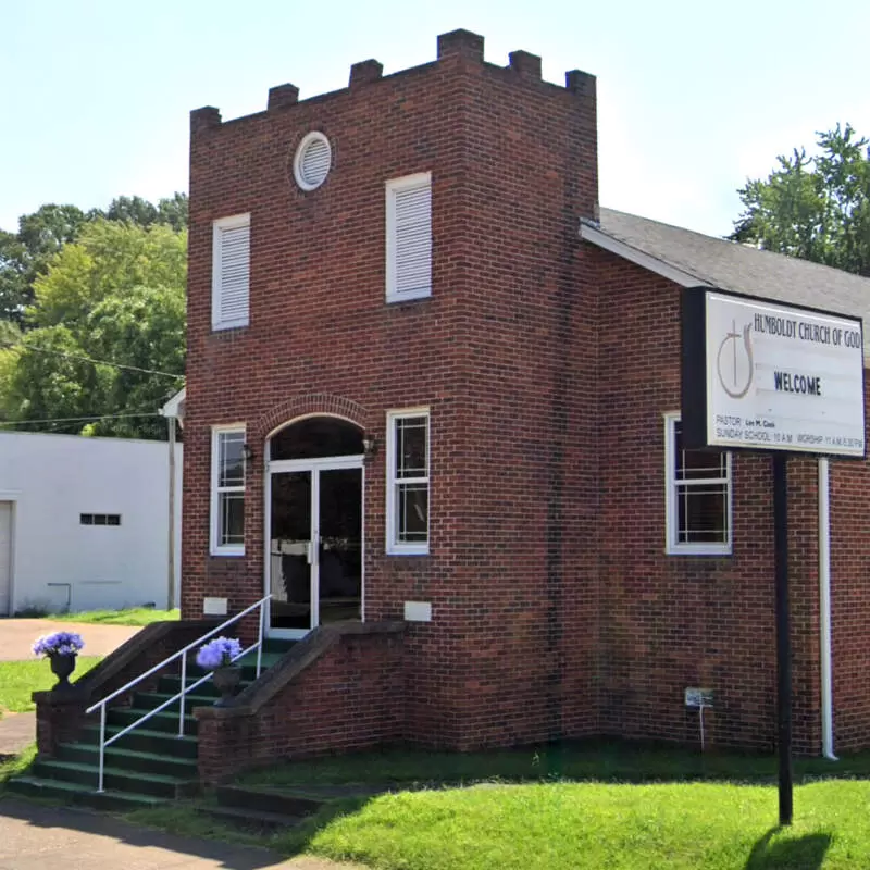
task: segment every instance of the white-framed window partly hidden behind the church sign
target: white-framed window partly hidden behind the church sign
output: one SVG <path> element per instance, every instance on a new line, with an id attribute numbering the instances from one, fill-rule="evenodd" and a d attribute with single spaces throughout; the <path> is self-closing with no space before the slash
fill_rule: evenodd
<path id="1" fill-rule="evenodd" d="M 731 453 L 687 450 L 679 414 L 664 417 L 667 551 L 731 552 Z"/>

